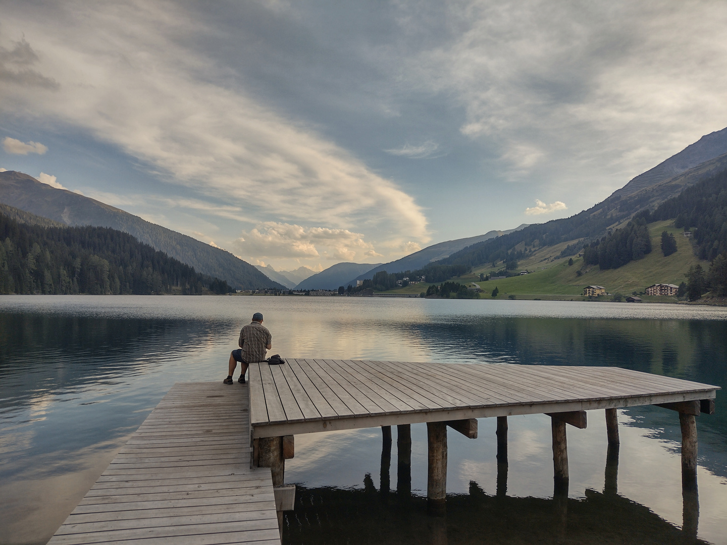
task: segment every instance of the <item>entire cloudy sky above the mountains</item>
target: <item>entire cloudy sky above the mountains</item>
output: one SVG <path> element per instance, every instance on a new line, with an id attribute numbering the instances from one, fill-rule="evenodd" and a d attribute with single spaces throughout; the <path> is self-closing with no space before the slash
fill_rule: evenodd
<path id="1" fill-rule="evenodd" d="M 4 1 L 0 168 L 277 270 L 566 217 L 727 126 L 724 1 Z"/>

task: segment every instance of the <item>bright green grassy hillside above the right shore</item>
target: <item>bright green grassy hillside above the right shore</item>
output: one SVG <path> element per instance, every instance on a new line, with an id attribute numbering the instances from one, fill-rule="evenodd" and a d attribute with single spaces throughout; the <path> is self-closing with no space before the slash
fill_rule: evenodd
<path id="1" fill-rule="evenodd" d="M 684 273 L 691 265 L 701 262 L 702 267 L 708 268 L 709 263 L 700 261 L 692 251 L 691 239 L 684 238 L 682 230 L 674 227 L 673 220 L 654 222 L 648 225 L 651 233 L 651 254 L 643 259 L 632 261 L 618 269 L 601 270 L 598 265 L 588 265 L 583 274 L 578 276 L 576 271 L 582 268 L 583 259 L 574 257 L 573 265 L 568 265 L 568 258 L 558 259 L 557 256 L 563 248 L 574 241 L 549 246 L 535 252 L 526 261 L 519 264 L 522 270 L 533 271 L 528 275 L 504 278 L 501 280 L 478 280 L 480 273 L 492 273 L 492 267 L 475 267 L 472 275 L 454 278 L 461 283 L 476 281 L 483 289 L 481 297 L 490 297 L 490 292 L 497 286 L 498 299 L 507 295 L 523 296 L 523 299 L 533 299 L 545 296 L 547 299 L 571 299 L 579 297 L 583 288 L 590 284 L 603 286 L 608 293 L 616 292 L 628 295 L 632 291 L 643 291 L 646 286 L 654 283 L 679 284 L 684 280 Z M 677 251 L 669 257 L 664 257 L 661 251 L 662 231 L 675 235 Z M 419 283 L 387 293 L 419 293 L 426 291 L 428 283 Z M 667 298 L 644 298 L 645 300 L 667 300 Z"/>

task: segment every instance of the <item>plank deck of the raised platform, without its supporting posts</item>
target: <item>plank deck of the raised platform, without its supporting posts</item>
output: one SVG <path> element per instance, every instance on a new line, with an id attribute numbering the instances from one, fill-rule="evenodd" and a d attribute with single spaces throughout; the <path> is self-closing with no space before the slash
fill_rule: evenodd
<path id="1" fill-rule="evenodd" d="M 254 437 L 713 399 L 718 387 L 616 367 L 294 359 L 250 366 Z"/>

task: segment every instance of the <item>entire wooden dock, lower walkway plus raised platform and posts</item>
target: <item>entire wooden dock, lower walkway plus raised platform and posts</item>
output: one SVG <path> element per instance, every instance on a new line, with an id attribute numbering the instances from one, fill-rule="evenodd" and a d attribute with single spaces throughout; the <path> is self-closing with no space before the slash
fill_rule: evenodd
<path id="1" fill-rule="evenodd" d="M 678 412 L 688 498 L 696 494 L 695 417 L 714 411 L 717 389 L 606 367 L 292 358 L 281 366 L 253 363 L 249 387 L 174 384 L 49 545 L 280 544 L 282 511 L 293 507 L 294 486 L 284 486 L 284 469 L 294 456 L 294 435 L 340 429 L 382 427 L 382 475 L 388 475 L 390 427 L 396 425 L 397 487 L 406 493 L 409 486 L 410 493 L 411 424 L 425 422 L 427 504 L 441 514 L 447 427 L 475 438 L 477 419 L 497 417 L 497 483 L 505 490 L 507 416 L 546 413 L 553 426 L 554 496 L 567 498 L 566 424 L 585 428 L 586 411 L 605 410 L 607 480 L 615 483 L 616 408 L 636 405 Z M 685 520 L 696 520 L 691 504 L 698 505 L 685 499 Z"/>

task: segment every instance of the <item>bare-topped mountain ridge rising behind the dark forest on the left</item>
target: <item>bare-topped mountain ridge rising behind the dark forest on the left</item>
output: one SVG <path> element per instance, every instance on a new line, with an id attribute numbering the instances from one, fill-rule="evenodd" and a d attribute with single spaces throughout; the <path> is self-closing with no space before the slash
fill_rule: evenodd
<path id="1" fill-rule="evenodd" d="M 283 287 L 228 251 L 92 198 L 50 187 L 22 172 L 0 172 L 0 201 L 65 225 L 95 225 L 124 231 L 200 273 L 227 280 L 234 288 Z"/>

